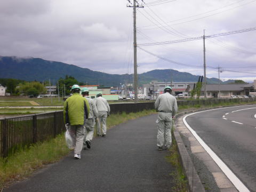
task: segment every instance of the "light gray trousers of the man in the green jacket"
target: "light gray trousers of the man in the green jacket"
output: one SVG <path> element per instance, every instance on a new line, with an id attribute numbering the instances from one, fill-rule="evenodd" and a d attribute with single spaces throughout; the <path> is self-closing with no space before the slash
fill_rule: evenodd
<path id="1" fill-rule="evenodd" d="M 72 139 L 76 141 L 74 153 L 81 154 L 84 140 L 84 125 L 68 125 L 68 132 L 70 133 Z"/>

